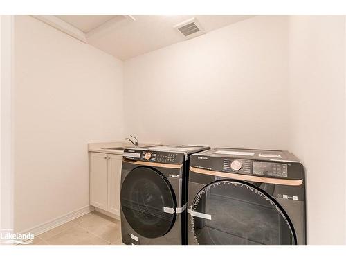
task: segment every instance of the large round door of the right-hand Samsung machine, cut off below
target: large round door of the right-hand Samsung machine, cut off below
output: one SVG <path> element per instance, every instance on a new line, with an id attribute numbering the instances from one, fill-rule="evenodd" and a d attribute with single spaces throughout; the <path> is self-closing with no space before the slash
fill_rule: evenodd
<path id="1" fill-rule="evenodd" d="M 219 180 L 201 189 L 190 212 L 199 245 L 295 245 L 280 205 L 252 184 Z"/>

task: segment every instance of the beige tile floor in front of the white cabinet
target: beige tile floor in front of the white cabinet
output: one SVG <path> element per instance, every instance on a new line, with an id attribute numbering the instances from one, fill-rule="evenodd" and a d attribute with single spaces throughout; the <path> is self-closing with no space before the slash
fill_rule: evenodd
<path id="1" fill-rule="evenodd" d="M 36 236 L 30 245 L 124 245 L 120 221 L 98 211 Z"/>

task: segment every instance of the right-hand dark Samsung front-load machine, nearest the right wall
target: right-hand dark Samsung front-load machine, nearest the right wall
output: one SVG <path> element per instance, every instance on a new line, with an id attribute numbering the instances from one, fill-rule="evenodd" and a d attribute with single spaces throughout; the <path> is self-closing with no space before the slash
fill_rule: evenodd
<path id="1" fill-rule="evenodd" d="M 190 157 L 188 245 L 305 245 L 302 163 L 284 150 Z"/>

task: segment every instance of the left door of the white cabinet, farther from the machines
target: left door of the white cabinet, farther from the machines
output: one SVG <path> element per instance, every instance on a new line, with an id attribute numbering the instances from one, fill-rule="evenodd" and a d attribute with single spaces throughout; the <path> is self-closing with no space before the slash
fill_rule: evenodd
<path id="1" fill-rule="evenodd" d="M 90 154 L 90 204 L 107 210 L 107 153 Z"/>

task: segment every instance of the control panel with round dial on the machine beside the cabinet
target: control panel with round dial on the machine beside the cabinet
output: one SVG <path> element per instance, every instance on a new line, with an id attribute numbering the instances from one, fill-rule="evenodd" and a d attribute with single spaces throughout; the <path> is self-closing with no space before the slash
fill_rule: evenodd
<path id="1" fill-rule="evenodd" d="M 161 164 L 181 164 L 185 161 L 185 155 L 183 153 L 154 150 L 125 149 L 122 157 L 124 157 L 124 159 L 143 162 L 157 162 Z"/>

